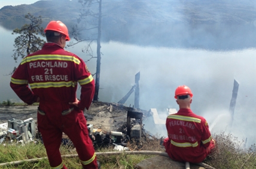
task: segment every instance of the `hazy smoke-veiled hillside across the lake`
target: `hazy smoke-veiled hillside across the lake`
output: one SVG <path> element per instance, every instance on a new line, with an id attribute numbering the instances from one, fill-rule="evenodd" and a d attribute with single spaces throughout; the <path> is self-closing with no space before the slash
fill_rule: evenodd
<path id="1" fill-rule="evenodd" d="M 97 10 L 97 6 L 93 6 Z M 22 26 L 30 12 L 45 26 L 61 20 L 77 24 L 78 1 L 38 1 L 5 6 L 1 25 Z M 102 1 L 102 40 L 175 48 L 240 49 L 255 47 L 254 1 Z M 224 38 L 224 39 L 222 39 Z M 209 40 L 212 43 L 208 42 Z"/>

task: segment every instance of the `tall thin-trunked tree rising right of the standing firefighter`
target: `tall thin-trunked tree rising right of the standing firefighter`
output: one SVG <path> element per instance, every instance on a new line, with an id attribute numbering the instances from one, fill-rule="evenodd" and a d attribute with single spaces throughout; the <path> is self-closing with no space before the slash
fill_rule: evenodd
<path id="1" fill-rule="evenodd" d="M 102 54 L 100 52 L 102 0 L 79 0 L 78 2 L 81 3 L 82 8 L 80 10 L 79 18 L 77 18 L 78 24 L 72 27 L 72 35 L 74 35 L 74 39 L 77 40 L 77 42 L 72 45 L 84 41 L 88 42 L 87 46 L 82 49 L 83 52 L 86 52 L 86 54 L 90 56 L 87 61 L 90 61 L 92 58 L 97 58 L 96 73 L 93 74 L 93 76 L 95 76 L 95 95 L 93 101 L 97 101 L 99 95 L 100 60 Z M 86 35 L 88 35 L 87 37 L 83 36 L 84 31 L 86 31 Z M 93 50 L 91 48 L 91 44 L 94 41 L 97 42 L 97 57 L 93 56 Z"/>

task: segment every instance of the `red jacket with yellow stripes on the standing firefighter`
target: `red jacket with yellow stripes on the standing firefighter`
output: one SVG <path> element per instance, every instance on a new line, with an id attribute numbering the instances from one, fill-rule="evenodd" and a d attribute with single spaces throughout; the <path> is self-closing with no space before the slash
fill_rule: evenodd
<path id="1" fill-rule="evenodd" d="M 77 55 L 56 43 L 45 43 L 41 50 L 28 55 L 11 76 L 10 86 L 27 104 L 74 102 L 77 82 L 81 86 L 78 107 L 89 108 L 95 93 L 95 81 L 86 64 Z"/>

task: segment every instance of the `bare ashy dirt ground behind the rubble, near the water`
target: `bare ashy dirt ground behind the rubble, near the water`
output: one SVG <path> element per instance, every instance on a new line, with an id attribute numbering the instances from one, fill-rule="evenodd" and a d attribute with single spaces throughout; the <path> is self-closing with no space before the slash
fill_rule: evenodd
<path id="1" fill-rule="evenodd" d="M 0 124 L 15 118 L 26 120 L 28 118 L 37 119 L 36 112 L 38 106 L 13 106 L 0 107 Z M 127 121 L 127 111 L 129 107 L 120 104 L 107 102 L 92 102 L 89 110 L 84 111 L 87 124 L 93 124 L 94 129 L 102 129 L 106 132 L 115 131 Z"/>

